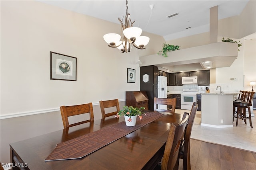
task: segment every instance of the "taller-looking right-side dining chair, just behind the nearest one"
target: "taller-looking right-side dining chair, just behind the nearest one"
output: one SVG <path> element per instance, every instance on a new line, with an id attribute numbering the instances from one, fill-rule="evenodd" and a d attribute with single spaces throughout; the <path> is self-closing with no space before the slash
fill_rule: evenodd
<path id="1" fill-rule="evenodd" d="M 191 136 L 191 131 L 192 131 L 194 119 L 196 117 L 197 109 L 198 109 L 198 104 L 196 102 L 194 102 L 193 105 L 192 105 L 190 114 L 189 114 L 188 123 L 187 123 L 186 129 L 184 131 L 184 136 L 182 137 L 182 144 L 181 144 L 181 147 L 180 147 L 179 159 L 183 159 L 183 170 L 191 170 L 191 165 L 190 165 L 190 136 Z M 188 114 L 188 113 L 186 113 L 186 114 Z M 183 115 L 183 117 L 184 117 L 184 115 Z M 176 162 L 175 169 L 178 169 L 178 167 L 179 167 L 179 159 Z"/>

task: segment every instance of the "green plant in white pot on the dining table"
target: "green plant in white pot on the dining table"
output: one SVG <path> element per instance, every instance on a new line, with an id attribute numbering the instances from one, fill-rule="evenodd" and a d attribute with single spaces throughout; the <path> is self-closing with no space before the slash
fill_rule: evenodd
<path id="1" fill-rule="evenodd" d="M 133 107 L 133 106 L 124 106 L 124 109 L 120 110 L 115 117 L 120 117 L 124 115 L 125 123 L 127 126 L 134 126 L 136 124 L 136 116 L 142 119 L 142 111 L 145 107 Z M 144 113 L 145 114 L 145 113 Z M 146 115 L 146 114 L 145 114 Z"/>

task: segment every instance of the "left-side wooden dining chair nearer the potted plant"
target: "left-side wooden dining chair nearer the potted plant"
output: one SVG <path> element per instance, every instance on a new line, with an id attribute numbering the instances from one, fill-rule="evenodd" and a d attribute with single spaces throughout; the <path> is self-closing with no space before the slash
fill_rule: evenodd
<path id="1" fill-rule="evenodd" d="M 116 111 L 106 113 L 106 108 L 110 108 L 110 107 L 116 107 L 115 108 Z M 102 118 L 116 115 L 116 113 L 118 113 L 120 111 L 118 99 L 105 100 L 105 101 L 101 100 L 100 101 L 100 110 L 101 110 Z"/>

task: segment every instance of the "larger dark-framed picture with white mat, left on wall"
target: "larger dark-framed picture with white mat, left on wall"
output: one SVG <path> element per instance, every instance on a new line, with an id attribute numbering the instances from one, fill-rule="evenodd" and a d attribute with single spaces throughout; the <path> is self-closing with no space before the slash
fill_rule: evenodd
<path id="1" fill-rule="evenodd" d="M 76 57 L 51 51 L 50 79 L 76 81 Z"/>

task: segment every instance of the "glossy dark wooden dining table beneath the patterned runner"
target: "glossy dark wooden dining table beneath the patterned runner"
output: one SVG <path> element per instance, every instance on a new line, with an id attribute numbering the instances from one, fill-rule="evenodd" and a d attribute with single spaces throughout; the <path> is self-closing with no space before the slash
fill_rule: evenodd
<path id="1" fill-rule="evenodd" d="M 12 143 L 10 144 L 12 169 L 18 169 L 18 166 L 30 170 L 153 169 L 163 156 L 171 123 L 180 122 L 182 119 L 181 114 L 161 113 L 164 116 L 78 159 L 45 161 L 58 143 L 120 123 L 124 121 L 124 117 L 106 117 Z"/>

